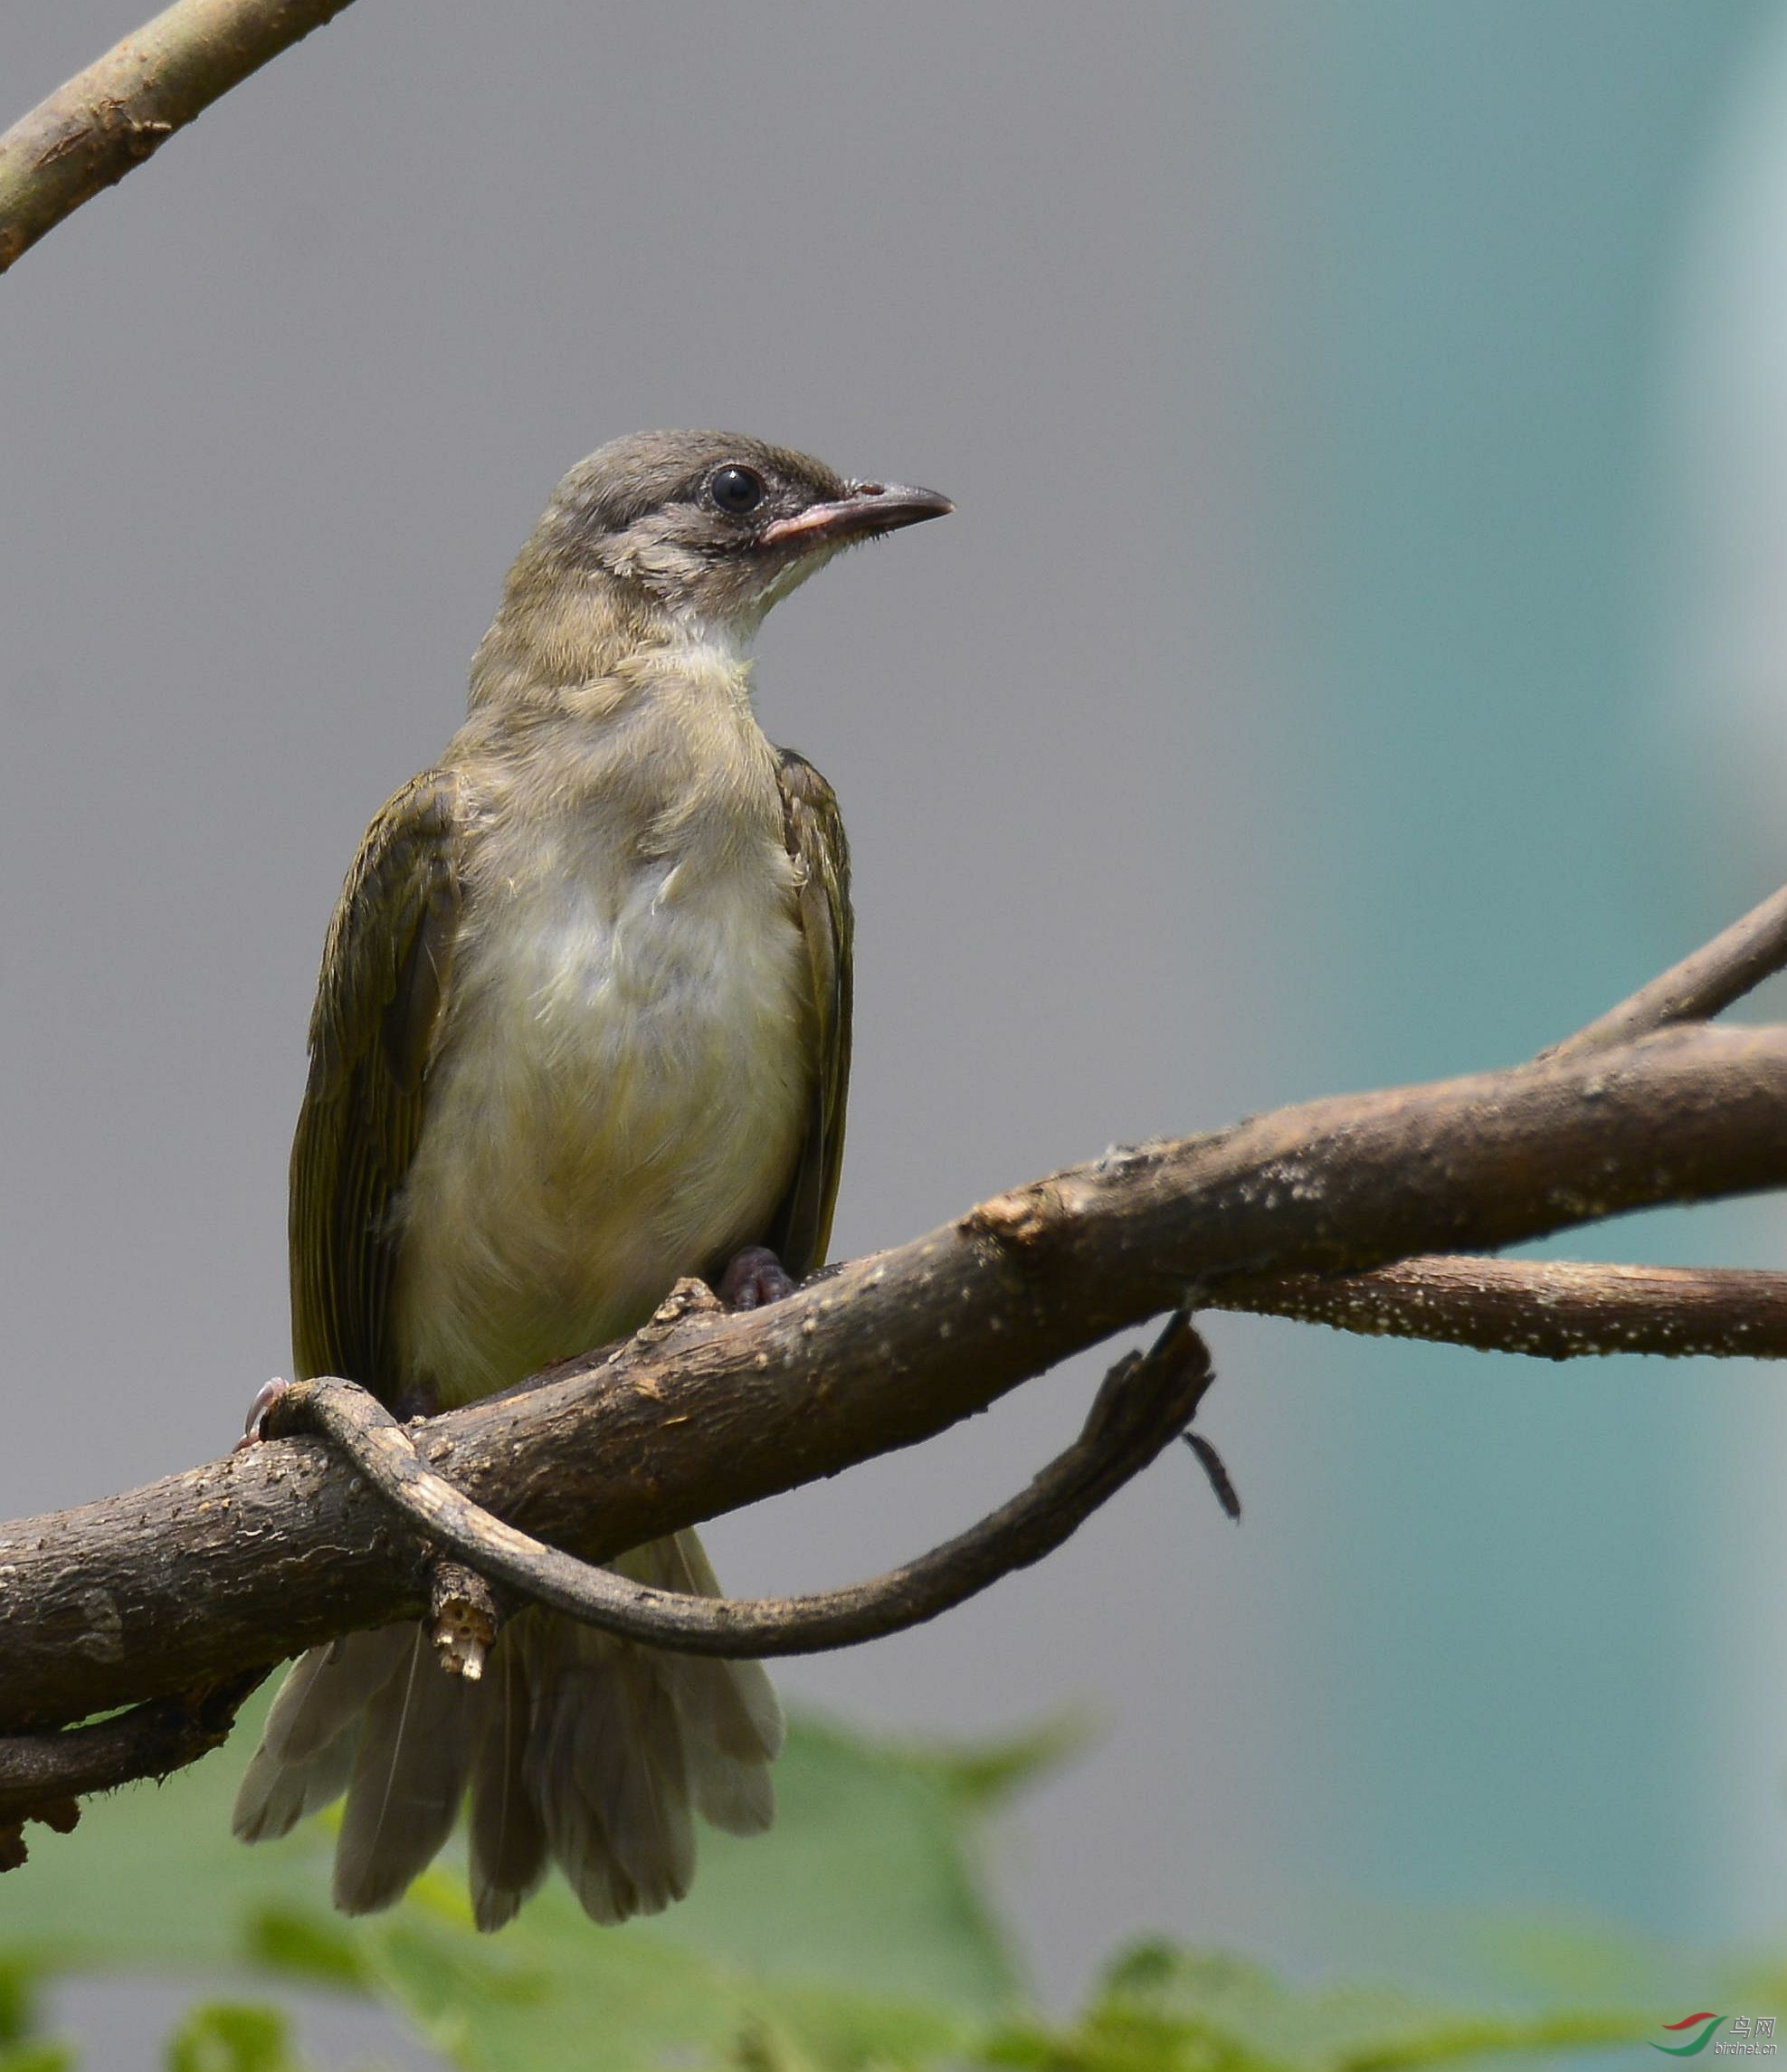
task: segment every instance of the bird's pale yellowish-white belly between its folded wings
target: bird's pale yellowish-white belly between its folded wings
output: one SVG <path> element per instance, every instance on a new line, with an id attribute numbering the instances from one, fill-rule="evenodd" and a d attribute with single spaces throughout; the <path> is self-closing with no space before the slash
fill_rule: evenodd
<path id="1" fill-rule="evenodd" d="M 620 903 L 551 885 L 489 916 L 400 1206 L 410 1382 L 506 1388 L 763 1239 L 809 1113 L 804 970 L 767 874 Z"/>

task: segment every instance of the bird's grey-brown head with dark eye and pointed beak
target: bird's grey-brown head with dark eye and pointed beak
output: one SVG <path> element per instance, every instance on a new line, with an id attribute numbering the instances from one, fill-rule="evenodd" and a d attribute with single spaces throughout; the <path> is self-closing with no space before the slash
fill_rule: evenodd
<path id="1" fill-rule="evenodd" d="M 954 510 L 935 489 L 846 481 L 730 431 L 641 431 L 580 460 L 535 547 L 734 636 L 844 547 Z"/>

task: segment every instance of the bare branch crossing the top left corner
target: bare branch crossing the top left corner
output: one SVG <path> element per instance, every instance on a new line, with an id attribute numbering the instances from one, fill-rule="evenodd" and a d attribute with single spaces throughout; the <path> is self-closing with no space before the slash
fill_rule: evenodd
<path id="1" fill-rule="evenodd" d="M 0 274 L 350 0 L 178 0 L 0 137 Z"/>

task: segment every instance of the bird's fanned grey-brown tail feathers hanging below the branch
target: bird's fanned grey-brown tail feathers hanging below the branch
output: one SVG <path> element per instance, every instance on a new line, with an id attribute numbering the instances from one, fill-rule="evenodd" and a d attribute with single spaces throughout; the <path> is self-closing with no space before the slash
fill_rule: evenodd
<path id="1" fill-rule="evenodd" d="M 614 1562 L 657 1589 L 717 1595 L 694 1533 Z M 471 1790 L 471 1894 L 498 1929 L 558 1863 L 593 1921 L 659 1912 L 694 1875 L 690 1809 L 728 1834 L 775 1815 L 782 1707 L 757 1662 L 634 1647 L 556 1612 L 510 1620 L 479 1682 L 448 1676 L 421 1627 L 317 1647 L 288 1672 L 236 1792 L 245 1842 L 346 1792 L 336 1906 L 402 1896 Z"/>

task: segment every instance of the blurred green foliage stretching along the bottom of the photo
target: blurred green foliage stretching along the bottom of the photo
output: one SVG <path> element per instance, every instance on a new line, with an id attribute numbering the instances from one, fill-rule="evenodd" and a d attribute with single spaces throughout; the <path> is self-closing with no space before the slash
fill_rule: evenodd
<path id="1" fill-rule="evenodd" d="M 245 1728 L 247 1734 L 251 1728 Z M 230 1981 L 168 2072 L 303 2072 L 270 1981 L 371 1997 L 466 2072 L 1391 2072 L 1632 2045 L 1654 2010 L 1457 2014 L 1387 1989 L 1298 1989 L 1229 1956 L 1126 1950 L 1066 2024 L 1028 2006 L 987 1900 L 987 1813 L 1072 1745 L 879 1747 L 798 1722 L 771 1836 L 703 1836 L 694 1894 L 593 1929 L 554 1881 L 495 1937 L 444 1859 L 388 1915 L 328 1908 L 325 1821 L 240 1848 L 232 1751 L 87 1807 L 0 1888 L 0 2072 L 64 2072 L 39 1989 L 68 1973 Z M 259 1985 L 257 1985 L 259 1981 Z M 1752 1987 L 1768 1981 L 1752 1977 Z M 1772 1981 L 1783 1983 L 1783 1981 Z"/>

